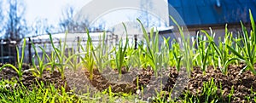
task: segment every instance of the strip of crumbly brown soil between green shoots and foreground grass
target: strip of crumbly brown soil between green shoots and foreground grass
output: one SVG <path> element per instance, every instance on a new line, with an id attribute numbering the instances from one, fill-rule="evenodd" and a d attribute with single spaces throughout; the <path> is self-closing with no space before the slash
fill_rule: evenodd
<path id="1" fill-rule="evenodd" d="M 207 72 L 204 75 L 200 67 L 194 67 L 194 71 L 190 73 L 189 83 L 183 92 L 189 91 L 190 96 L 198 96 L 201 101 L 204 101 L 204 97 L 200 96 L 203 89 L 203 83 L 210 82 L 213 78 L 214 83 L 218 85 L 218 91 L 222 90 L 223 96 L 221 98 L 225 102 L 228 101 L 228 94 L 230 94 L 232 86 L 234 86 L 234 94 L 231 96 L 231 102 L 253 102 L 247 101 L 246 96 L 251 97 L 251 100 L 256 96 L 255 94 L 251 94 L 251 89 L 253 89 L 253 92 L 256 92 L 256 76 L 249 71 L 239 74 L 242 67 L 244 67 L 242 64 L 239 66 L 229 66 L 227 75 L 224 75 L 218 69 L 213 69 L 212 66 L 207 68 Z M 23 66 L 23 68 L 26 70 L 29 66 Z M 131 69 L 129 72 L 123 68 L 122 73 L 122 76 L 124 77 L 119 78 L 116 70 L 107 69 L 106 71 L 99 72 L 95 69 L 93 78 L 88 79 L 90 73 L 86 69 L 79 69 L 78 71 L 67 69 L 65 71 L 66 77 L 62 80 L 60 72 L 51 73 L 45 71 L 43 78 L 34 77 L 31 72 L 25 72 L 21 82 L 29 87 L 38 80 L 39 82 L 53 83 L 56 88 L 60 88 L 67 83 L 67 91 L 72 88 L 76 89 L 76 93 L 83 93 L 87 91 L 87 89 L 102 91 L 111 87 L 112 92 L 114 93 L 123 92 L 137 94 L 137 89 L 142 89 L 142 87 L 144 87 L 143 89 L 147 87 L 148 90 L 159 88 L 159 86 L 155 86 L 155 84 L 160 77 L 154 77 L 154 72 L 150 68 L 140 70 Z M 127 74 L 127 77 L 125 77 L 125 74 Z M 172 67 L 169 68 L 169 72 L 164 73 L 164 75 L 167 76 L 168 79 L 163 90 L 166 91 L 166 96 L 168 96 L 168 93 L 177 81 L 177 77 L 183 75 L 183 73 L 178 73 L 176 68 Z M 17 74 L 13 69 L 6 68 L 0 72 L 0 79 L 10 79 L 12 77 L 17 78 Z M 222 89 L 220 89 L 220 83 Z M 137 88 L 137 84 L 140 88 Z M 221 95 L 221 92 L 218 92 L 217 94 Z M 148 97 L 149 96 L 152 95 L 148 95 Z M 184 98 L 184 95 L 180 95 L 180 98 Z"/>

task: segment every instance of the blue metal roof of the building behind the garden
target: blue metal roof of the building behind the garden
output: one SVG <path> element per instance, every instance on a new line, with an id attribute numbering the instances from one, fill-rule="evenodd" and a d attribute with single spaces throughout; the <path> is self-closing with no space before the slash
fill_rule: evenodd
<path id="1" fill-rule="evenodd" d="M 168 0 L 168 3 L 177 10 L 186 26 L 248 22 L 248 9 L 256 15 L 256 0 Z M 170 10 L 169 14 L 172 15 Z"/>

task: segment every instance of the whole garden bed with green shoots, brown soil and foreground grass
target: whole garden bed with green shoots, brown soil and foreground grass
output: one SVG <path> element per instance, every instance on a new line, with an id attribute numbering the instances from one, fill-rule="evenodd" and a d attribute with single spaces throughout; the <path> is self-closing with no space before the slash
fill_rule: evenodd
<path id="1" fill-rule="evenodd" d="M 119 45 L 106 45 L 105 34 L 93 45 L 88 31 L 85 44 L 78 41 L 76 49 L 66 50 L 66 38 L 55 47 L 49 35 L 53 51 L 47 54 L 45 47 L 32 43 L 32 66 L 23 63 L 24 39 L 16 66 L 0 65 L 0 101 L 256 102 L 256 26 L 251 12 L 250 18 L 251 31 L 241 24 L 242 33 L 233 37 L 226 26 L 225 36 L 216 43 L 215 33 L 201 30 L 192 46 L 172 17 L 183 38 L 179 43 L 164 38 L 159 45 L 158 32 L 153 28 L 148 36 L 140 20 L 144 40 L 137 49 L 128 37 Z"/>

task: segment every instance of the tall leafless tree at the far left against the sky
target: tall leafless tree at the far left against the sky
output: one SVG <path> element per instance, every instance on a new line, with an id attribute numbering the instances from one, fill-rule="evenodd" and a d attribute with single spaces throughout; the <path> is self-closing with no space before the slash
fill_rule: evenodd
<path id="1" fill-rule="evenodd" d="M 20 41 L 28 33 L 24 19 L 25 5 L 22 0 L 9 0 L 8 20 L 5 24 L 5 38 Z"/>

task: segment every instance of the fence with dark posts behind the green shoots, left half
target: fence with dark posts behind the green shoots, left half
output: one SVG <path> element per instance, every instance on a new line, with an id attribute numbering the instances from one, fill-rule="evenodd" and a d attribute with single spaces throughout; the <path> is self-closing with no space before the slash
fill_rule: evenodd
<path id="1" fill-rule="evenodd" d="M 53 35 L 54 36 L 54 35 Z M 99 42 L 102 42 L 100 38 L 100 36 L 90 36 L 92 39 L 92 43 L 94 45 L 97 45 Z M 102 37 L 102 36 L 101 36 Z M 105 43 L 108 45 L 118 45 L 119 43 L 119 36 L 118 35 L 106 35 L 106 39 L 105 39 Z M 136 41 L 140 40 L 140 38 L 142 38 L 142 35 L 128 35 L 128 38 L 130 40 L 133 41 L 133 43 L 137 43 Z M 78 43 L 80 41 L 80 44 L 85 45 L 87 42 L 87 37 L 69 37 L 67 38 L 66 44 L 66 51 L 68 49 L 76 49 L 76 47 L 78 46 Z M 49 37 L 48 38 L 38 38 L 38 37 L 27 37 L 26 38 L 26 48 L 25 48 L 25 58 L 24 58 L 24 63 L 28 63 L 28 64 L 32 64 L 32 56 L 35 54 L 34 49 L 32 48 L 32 43 L 33 42 L 35 44 L 35 47 L 38 51 L 38 54 L 41 56 L 43 54 L 42 50 L 39 49 L 39 46 L 43 47 L 45 52 L 47 54 L 51 54 L 51 52 L 54 50 L 52 48 L 52 45 L 49 41 Z M 53 42 L 55 44 L 55 47 L 59 47 L 61 44 L 63 45 L 64 40 L 63 39 L 59 39 L 57 37 L 53 38 Z M 16 47 L 18 47 L 19 49 L 19 53 L 21 54 L 21 47 L 22 47 L 22 43 L 23 41 L 21 41 L 20 43 L 17 43 L 16 41 L 4 41 L 4 40 L 0 40 L 0 63 L 11 63 L 11 64 L 15 64 L 16 60 L 17 60 L 17 51 L 16 51 Z M 79 51 L 78 51 L 79 52 Z M 37 59 L 35 59 L 37 60 Z M 37 62 L 37 61 L 36 61 Z"/>

